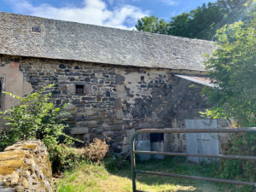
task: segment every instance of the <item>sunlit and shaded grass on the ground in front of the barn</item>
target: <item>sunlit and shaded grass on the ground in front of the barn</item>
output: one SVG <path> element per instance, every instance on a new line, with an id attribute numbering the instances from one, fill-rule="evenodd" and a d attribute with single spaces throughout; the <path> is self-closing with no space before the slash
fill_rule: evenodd
<path id="1" fill-rule="evenodd" d="M 166 158 L 137 163 L 137 169 L 155 172 L 172 172 L 201 177 L 219 177 L 218 164 L 196 165 L 186 163 L 184 158 Z M 128 192 L 131 191 L 131 167 L 125 166 L 116 172 L 109 172 L 103 165 L 83 164 L 72 172 L 65 172 L 58 179 L 55 189 L 59 192 Z M 143 191 L 170 192 L 233 192 L 242 191 L 241 186 L 196 181 L 192 179 L 159 177 L 137 174 L 137 189 Z M 247 188 L 243 191 L 253 191 Z"/>

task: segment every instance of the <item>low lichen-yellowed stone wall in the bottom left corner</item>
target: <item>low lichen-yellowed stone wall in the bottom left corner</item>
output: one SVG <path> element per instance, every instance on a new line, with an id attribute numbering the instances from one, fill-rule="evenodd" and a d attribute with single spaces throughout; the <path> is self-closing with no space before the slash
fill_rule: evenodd
<path id="1" fill-rule="evenodd" d="M 0 191 L 49 192 L 52 171 L 40 141 L 15 143 L 0 153 Z"/>

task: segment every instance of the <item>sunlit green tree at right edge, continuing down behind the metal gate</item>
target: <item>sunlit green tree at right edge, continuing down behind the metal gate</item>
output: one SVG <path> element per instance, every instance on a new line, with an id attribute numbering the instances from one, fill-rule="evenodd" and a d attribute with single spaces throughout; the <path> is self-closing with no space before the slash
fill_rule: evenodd
<path id="1" fill-rule="evenodd" d="M 207 61 L 207 70 L 218 87 L 205 89 L 215 105 L 206 114 L 233 119 L 236 126 L 256 126 L 256 5 L 244 20 L 219 29 L 216 38 L 218 49 Z M 256 155 L 254 132 L 236 134 L 226 144 L 225 154 Z M 220 176 L 254 181 L 255 167 L 255 161 L 222 160 Z"/>

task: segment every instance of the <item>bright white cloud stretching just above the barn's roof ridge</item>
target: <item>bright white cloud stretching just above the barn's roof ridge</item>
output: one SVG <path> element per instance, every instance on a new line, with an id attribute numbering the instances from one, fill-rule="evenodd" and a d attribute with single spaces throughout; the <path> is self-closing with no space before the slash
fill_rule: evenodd
<path id="1" fill-rule="evenodd" d="M 15 13 L 19 14 L 123 29 L 133 29 L 137 19 L 148 14 L 148 11 L 144 12 L 129 4 L 110 10 L 102 0 L 84 0 L 80 8 L 74 6 L 55 8 L 46 3 L 34 6 L 28 0 L 9 0 L 9 3 Z"/>

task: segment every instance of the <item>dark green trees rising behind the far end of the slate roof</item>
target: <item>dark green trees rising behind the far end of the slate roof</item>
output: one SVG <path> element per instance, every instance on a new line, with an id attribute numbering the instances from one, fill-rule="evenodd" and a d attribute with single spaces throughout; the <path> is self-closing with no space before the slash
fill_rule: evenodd
<path id="1" fill-rule="evenodd" d="M 184 38 L 213 40 L 218 28 L 243 20 L 253 0 L 218 0 L 172 17 L 170 22 L 154 15 L 137 21 L 138 31 L 154 32 Z"/>

